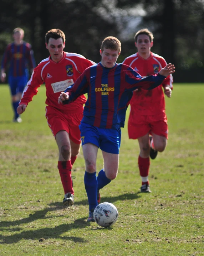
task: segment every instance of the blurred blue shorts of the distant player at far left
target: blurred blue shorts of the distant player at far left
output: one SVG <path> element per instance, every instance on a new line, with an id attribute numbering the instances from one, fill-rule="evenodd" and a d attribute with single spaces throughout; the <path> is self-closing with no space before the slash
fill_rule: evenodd
<path id="1" fill-rule="evenodd" d="M 12 96 L 16 95 L 19 92 L 22 93 L 24 91 L 27 81 L 28 81 L 27 76 L 18 76 L 18 77 L 9 76 L 8 82 L 11 90 L 11 95 Z"/>

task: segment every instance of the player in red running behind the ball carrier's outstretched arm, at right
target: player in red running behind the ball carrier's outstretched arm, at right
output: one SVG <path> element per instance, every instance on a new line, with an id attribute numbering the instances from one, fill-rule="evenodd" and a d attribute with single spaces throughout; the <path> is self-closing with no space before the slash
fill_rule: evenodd
<path id="1" fill-rule="evenodd" d="M 151 52 L 153 34 L 148 29 L 139 30 L 135 37 L 138 52 L 127 57 L 123 64 L 136 70 L 142 77 L 158 73 L 167 65 L 163 57 Z M 165 114 L 164 93 L 171 97 L 173 77 L 170 74 L 163 83 L 153 90 L 138 88 L 131 99 L 131 111 L 128 120 L 129 139 L 139 142 L 139 172 L 142 178 L 141 192 L 151 192 L 149 188 L 150 159 L 157 156 L 167 146 L 168 125 Z"/>

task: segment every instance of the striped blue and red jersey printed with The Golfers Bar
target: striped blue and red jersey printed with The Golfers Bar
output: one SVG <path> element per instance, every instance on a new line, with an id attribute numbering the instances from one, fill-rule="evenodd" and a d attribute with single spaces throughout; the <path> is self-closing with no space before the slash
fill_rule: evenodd
<path id="1" fill-rule="evenodd" d="M 125 64 L 116 63 L 113 68 L 105 68 L 99 62 L 85 69 L 76 82 L 65 90 L 69 100 L 63 103 L 70 103 L 87 93 L 81 122 L 100 128 L 118 129 L 124 127 L 133 91 L 139 87 L 151 90 L 164 79 L 159 73 L 142 78 Z"/>

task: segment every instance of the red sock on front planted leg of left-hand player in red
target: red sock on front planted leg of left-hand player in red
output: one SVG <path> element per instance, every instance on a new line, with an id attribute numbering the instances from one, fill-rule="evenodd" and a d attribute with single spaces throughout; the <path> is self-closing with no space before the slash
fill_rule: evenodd
<path id="1" fill-rule="evenodd" d="M 72 187 L 72 164 L 70 161 L 58 161 L 58 170 L 61 177 L 62 186 L 64 189 L 65 194 L 71 193 L 74 194 L 74 190 Z"/>

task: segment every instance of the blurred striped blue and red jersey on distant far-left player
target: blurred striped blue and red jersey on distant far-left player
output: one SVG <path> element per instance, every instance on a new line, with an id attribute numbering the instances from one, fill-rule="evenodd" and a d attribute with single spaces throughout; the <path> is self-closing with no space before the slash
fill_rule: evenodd
<path id="1" fill-rule="evenodd" d="M 1 68 L 8 67 L 9 76 L 18 77 L 28 74 L 28 66 L 30 69 L 36 66 L 31 45 L 26 42 L 19 45 L 8 44 L 1 61 Z"/>

